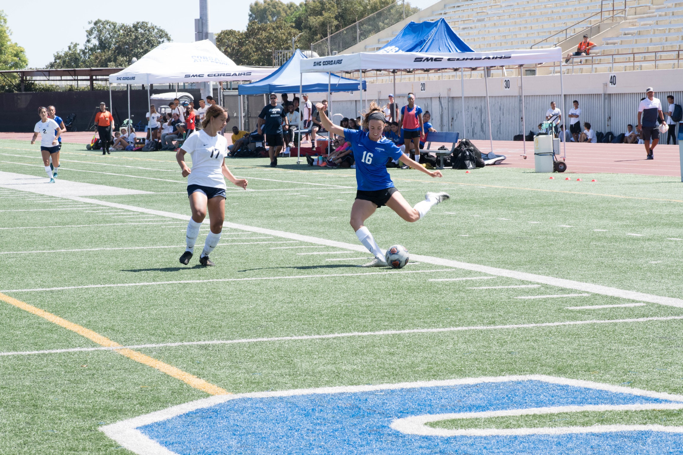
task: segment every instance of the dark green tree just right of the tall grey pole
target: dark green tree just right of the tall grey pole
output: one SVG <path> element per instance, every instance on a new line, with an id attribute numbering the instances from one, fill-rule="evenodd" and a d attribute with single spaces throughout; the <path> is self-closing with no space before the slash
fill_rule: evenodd
<path id="1" fill-rule="evenodd" d="M 273 65 L 273 50 L 292 48 L 299 31 L 284 19 L 260 24 L 252 20 L 246 31 L 223 30 L 216 34 L 216 46 L 238 65 Z"/>

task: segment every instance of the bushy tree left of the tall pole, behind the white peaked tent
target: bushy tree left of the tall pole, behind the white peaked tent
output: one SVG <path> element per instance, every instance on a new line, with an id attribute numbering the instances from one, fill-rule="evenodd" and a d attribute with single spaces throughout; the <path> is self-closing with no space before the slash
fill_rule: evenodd
<path id="1" fill-rule="evenodd" d="M 171 41 L 171 36 L 148 22 L 131 25 L 111 20 L 90 21 L 85 31 L 85 44 L 72 42 L 66 50 L 54 56 L 48 68 L 124 68 L 159 44 Z"/>

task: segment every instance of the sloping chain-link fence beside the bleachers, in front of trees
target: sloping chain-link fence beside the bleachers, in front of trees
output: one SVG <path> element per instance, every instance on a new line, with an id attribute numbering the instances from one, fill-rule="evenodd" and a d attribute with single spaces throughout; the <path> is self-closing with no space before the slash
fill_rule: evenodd
<path id="1" fill-rule="evenodd" d="M 320 57 L 326 57 L 335 52 L 340 53 L 342 50 L 346 50 L 354 44 L 370 38 L 375 33 L 404 20 L 407 16 L 415 14 L 416 10 L 419 8 L 411 8 L 410 3 L 406 4 L 405 0 L 398 0 L 357 23 L 331 34 L 329 38 L 311 43 L 311 50 Z"/>

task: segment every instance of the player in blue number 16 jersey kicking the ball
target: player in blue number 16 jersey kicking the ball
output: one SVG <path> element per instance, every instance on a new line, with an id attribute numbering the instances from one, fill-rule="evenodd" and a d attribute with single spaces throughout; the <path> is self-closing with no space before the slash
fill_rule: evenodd
<path id="1" fill-rule="evenodd" d="M 356 231 L 361 244 L 375 256 L 372 262 L 363 265 L 363 267 L 387 267 L 384 252 L 380 250 L 370 231 L 363 225 L 365 220 L 370 218 L 376 209 L 386 205 L 404 220 L 415 222 L 425 216 L 433 205 L 450 197 L 445 192 L 428 192 L 424 201 L 420 201 L 415 207 L 410 207 L 401 193 L 393 186 L 393 181 L 391 181 L 387 171 L 387 161 L 389 158 L 398 159 L 430 177 L 443 177 L 443 175 L 440 171 L 429 171 L 420 166 L 408 158 L 392 141 L 382 136 L 387 119 L 374 102 L 370 103 L 370 112 L 363 119 L 365 131 L 348 130 L 334 125 L 325 115 L 325 107 L 322 103 L 316 104 L 316 108 L 320 113 L 320 123 L 324 128 L 331 134 L 344 136 L 353 150 L 358 190 L 356 201 L 351 208 L 351 227 Z"/>

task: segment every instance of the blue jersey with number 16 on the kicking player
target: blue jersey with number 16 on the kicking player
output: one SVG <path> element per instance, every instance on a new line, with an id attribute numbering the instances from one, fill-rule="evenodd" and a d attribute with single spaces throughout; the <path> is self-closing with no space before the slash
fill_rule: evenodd
<path id="1" fill-rule="evenodd" d="M 356 162 L 356 182 L 361 191 L 386 190 L 393 187 L 387 171 L 389 158 L 398 160 L 403 152 L 385 137 L 372 141 L 367 131 L 347 130 L 344 138 L 351 144 Z"/>

